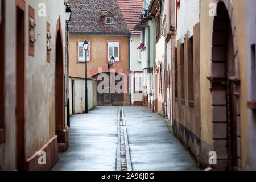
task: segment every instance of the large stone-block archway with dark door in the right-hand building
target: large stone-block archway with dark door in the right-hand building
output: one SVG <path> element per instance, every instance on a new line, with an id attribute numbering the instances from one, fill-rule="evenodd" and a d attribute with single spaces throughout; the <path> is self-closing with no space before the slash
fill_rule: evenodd
<path id="1" fill-rule="evenodd" d="M 212 139 L 217 152 L 214 169 L 241 169 L 240 78 L 233 7 L 230 0 L 216 0 L 212 22 Z"/>

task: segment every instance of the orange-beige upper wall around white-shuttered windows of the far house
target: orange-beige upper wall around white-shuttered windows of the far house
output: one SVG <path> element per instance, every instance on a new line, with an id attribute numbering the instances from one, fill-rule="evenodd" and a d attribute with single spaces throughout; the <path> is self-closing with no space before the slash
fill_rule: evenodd
<path id="1" fill-rule="evenodd" d="M 108 66 L 107 43 L 108 41 L 119 41 L 120 60 L 115 62 L 114 67 L 129 69 L 128 61 L 128 36 L 69 36 L 69 76 L 85 77 L 85 63 L 77 61 L 77 41 L 90 41 L 90 62 L 89 71 L 94 68 Z"/>

